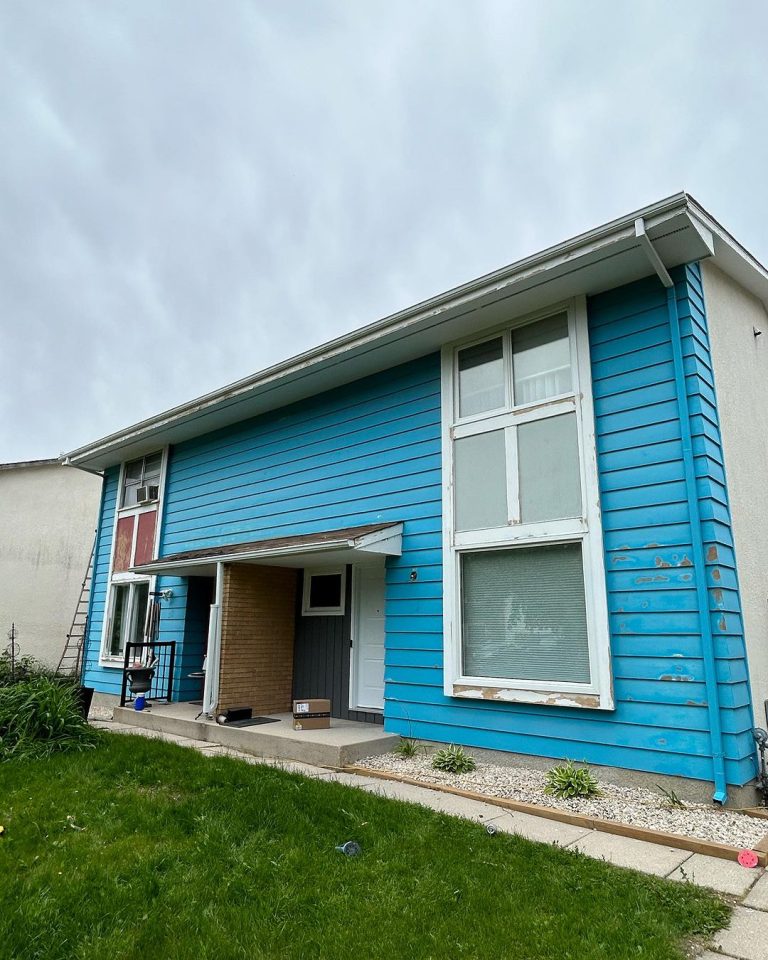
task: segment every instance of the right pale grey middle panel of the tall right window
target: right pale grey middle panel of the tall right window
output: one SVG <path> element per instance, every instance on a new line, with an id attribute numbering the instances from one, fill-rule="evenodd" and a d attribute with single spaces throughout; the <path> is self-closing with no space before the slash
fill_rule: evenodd
<path id="1" fill-rule="evenodd" d="M 522 522 L 580 517 L 576 414 L 521 423 L 517 453 Z"/>

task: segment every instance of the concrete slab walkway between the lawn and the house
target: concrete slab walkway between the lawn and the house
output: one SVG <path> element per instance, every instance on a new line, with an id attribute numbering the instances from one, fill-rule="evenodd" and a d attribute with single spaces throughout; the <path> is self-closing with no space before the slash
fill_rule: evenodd
<path id="1" fill-rule="evenodd" d="M 629 867 L 641 873 L 709 887 L 736 902 L 736 906 L 730 926 L 715 935 L 714 946 L 719 952 L 706 951 L 700 960 L 768 960 L 768 872 L 765 870 L 749 870 L 735 861 L 721 860 L 719 857 L 707 857 L 689 850 L 588 830 L 546 817 L 507 811 L 494 804 L 440 793 L 428 787 L 329 770 L 308 763 L 255 757 L 205 740 L 190 740 L 115 721 L 91 722 L 113 733 L 139 734 L 191 747 L 206 756 L 236 757 L 246 763 L 266 764 L 308 777 L 334 780 L 384 797 L 418 803 L 441 813 L 493 824 L 503 833 L 516 833 L 540 843 L 579 850 L 618 867 Z"/>

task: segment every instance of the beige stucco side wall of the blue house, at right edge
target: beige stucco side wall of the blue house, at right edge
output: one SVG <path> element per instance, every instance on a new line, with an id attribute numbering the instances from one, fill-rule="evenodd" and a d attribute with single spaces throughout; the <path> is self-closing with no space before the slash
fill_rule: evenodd
<path id="1" fill-rule="evenodd" d="M 768 311 L 713 264 L 705 261 L 702 273 L 752 701 L 762 727 L 768 699 Z"/>

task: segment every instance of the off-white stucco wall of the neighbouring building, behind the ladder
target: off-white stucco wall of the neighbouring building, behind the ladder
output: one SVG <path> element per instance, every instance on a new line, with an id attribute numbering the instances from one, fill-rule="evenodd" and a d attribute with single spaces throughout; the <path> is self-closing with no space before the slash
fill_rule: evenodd
<path id="1" fill-rule="evenodd" d="M 58 663 L 88 566 L 101 478 L 58 463 L 0 465 L 0 651 Z"/>

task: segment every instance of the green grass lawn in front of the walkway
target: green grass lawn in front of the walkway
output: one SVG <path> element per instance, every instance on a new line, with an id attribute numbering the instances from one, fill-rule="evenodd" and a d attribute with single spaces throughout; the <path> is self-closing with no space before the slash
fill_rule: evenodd
<path id="1" fill-rule="evenodd" d="M 689 884 L 138 736 L 0 765 L 0 824 L 14 960 L 661 960 L 728 918 Z"/>

